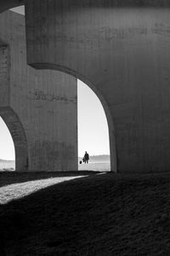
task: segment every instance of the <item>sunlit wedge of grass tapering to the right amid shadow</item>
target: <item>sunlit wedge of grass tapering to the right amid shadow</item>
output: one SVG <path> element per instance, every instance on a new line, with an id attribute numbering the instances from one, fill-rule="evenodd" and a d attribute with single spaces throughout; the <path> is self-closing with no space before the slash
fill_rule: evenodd
<path id="1" fill-rule="evenodd" d="M 83 177 L 83 176 L 79 176 Z M 78 177 L 50 177 L 26 183 L 14 183 L 0 188 L 0 204 L 8 203 L 8 201 L 20 199 L 26 195 L 31 195 L 40 189 L 53 186 L 57 183 L 63 183 Z"/>

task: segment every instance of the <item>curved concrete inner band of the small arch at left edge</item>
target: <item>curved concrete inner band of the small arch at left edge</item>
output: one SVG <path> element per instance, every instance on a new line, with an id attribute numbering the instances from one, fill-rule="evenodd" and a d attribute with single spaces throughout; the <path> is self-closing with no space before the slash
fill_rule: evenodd
<path id="1" fill-rule="evenodd" d="M 12 108 L 0 108 L 0 116 L 7 125 L 14 141 L 15 170 L 17 172 L 26 172 L 28 171 L 28 153 L 24 127 Z"/>

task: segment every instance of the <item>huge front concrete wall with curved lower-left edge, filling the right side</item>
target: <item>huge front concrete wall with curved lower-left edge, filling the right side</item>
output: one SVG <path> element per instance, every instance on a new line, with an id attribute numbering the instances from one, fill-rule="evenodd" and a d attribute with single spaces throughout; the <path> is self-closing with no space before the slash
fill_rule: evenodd
<path id="1" fill-rule="evenodd" d="M 160 6 L 169 1 L 26 2 L 28 63 L 103 96 L 112 170 L 115 139 L 118 171 L 170 168 L 170 9 Z"/>

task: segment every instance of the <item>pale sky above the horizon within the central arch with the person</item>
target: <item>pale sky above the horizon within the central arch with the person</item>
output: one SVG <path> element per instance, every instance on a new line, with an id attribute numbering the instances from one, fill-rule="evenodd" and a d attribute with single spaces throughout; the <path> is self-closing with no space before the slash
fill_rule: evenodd
<path id="1" fill-rule="evenodd" d="M 88 85 L 78 80 L 78 155 L 110 154 L 109 131 L 104 108 Z"/>

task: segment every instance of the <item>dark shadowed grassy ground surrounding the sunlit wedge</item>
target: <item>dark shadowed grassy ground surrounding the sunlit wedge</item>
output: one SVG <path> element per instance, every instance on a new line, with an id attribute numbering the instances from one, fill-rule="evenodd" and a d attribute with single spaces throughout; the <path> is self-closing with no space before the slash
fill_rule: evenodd
<path id="1" fill-rule="evenodd" d="M 24 189 L 47 177 L 3 172 L 0 184 Z M 106 173 L 54 184 L 3 204 L 0 225 L 4 255 L 170 255 L 170 174 Z"/>

